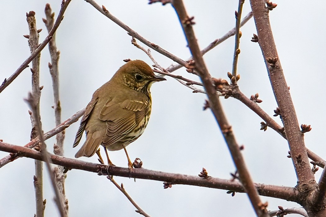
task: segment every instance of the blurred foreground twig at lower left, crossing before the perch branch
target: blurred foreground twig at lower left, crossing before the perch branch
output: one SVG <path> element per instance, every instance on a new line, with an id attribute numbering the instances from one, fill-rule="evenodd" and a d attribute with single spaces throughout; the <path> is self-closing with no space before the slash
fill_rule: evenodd
<path id="1" fill-rule="evenodd" d="M 64 203 L 63 203 L 63 198 L 60 196 L 59 190 L 57 188 L 57 185 L 55 184 L 55 177 L 54 174 L 52 172 L 51 169 L 51 165 L 50 165 L 50 161 L 51 158 L 49 156 L 48 151 L 46 150 L 46 145 L 44 143 L 44 137 L 43 137 L 43 131 L 42 131 L 42 127 L 41 127 L 41 117 L 39 115 L 39 109 L 35 103 L 35 99 L 33 97 L 33 95 L 31 93 L 29 93 L 28 98 L 25 99 L 25 101 L 29 104 L 31 110 L 32 110 L 32 114 L 33 114 L 33 118 L 35 120 L 36 123 L 36 128 L 37 128 L 37 133 L 38 133 L 38 137 L 40 139 L 40 153 L 42 155 L 42 159 L 44 160 L 46 167 L 48 169 L 49 175 L 50 175 L 50 180 L 52 183 L 52 187 L 55 193 L 55 198 L 54 201 L 58 207 L 58 210 L 60 212 L 60 216 L 61 217 L 65 217 L 65 211 L 64 211 Z"/>

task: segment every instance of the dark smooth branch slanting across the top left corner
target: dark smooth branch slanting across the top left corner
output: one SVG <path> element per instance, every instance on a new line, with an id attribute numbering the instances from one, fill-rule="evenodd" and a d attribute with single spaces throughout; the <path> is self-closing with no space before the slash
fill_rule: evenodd
<path id="1" fill-rule="evenodd" d="M 52 38 L 52 35 L 55 33 L 57 28 L 59 27 L 62 19 L 63 19 L 63 14 L 65 13 L 68 4 L 70 3 L 71 0 L 66 0 L 66 2 L 63 0 L 61 3 L 61 9 L 59 12 L 59 15 L 57 17 L 57 20 L 55 21 L 52 30 L 50 31 L 49 35 L 45 38 L 45 40 L 37 47 L 37 49 L 22 63 L 21 66 L 8 78 L 5 79 L 5 81 L 2 83 L 0 86 L 0 93 L 8 87 L 13 80 L 25 69 L 28 67 L 28 64 L 43 50 L 43 48 L 49 43 L 49 41 Z"/>

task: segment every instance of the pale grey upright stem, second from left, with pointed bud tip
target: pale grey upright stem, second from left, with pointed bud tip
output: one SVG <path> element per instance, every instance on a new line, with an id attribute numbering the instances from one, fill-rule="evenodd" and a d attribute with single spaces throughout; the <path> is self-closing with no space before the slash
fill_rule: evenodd
<path id="1" fill-rule="evenodd" d="M 45 16 L 46 19 L 43 18 L 43 22 L 50 33 L 51 29 L 54 25 L 54 12 L 52 13 L 52 9 L 50 4 L 45 5 Z M 54 118 L 55 118 L 55 126 L 60 125 L 61 123 L 61 103 L 60 103 L 60 95 L 59 95 L 59 55 L 60 51 L 57 50 L 56 41 L 55 41 L 55 33 L 52 36 L 52 40 L 49 42 L 49 51 L 51 57 L 51 63 L 49 62 L 49 69 L 52 78 L 52 88 L 53 88 L 53 97 L 54 97 Z M 58 133 L 55 137 L 56 142 L 53 147 L 53 152 L 55 155 L 64 156 L 63 150 L 63 142 L 65 139 L 65 131 Z M 65 215 L 68 215 L 68 200 L 66 199 L 65 193 L 65 180 L 66 174 L 63 173 L 64 168 L 58 166 L 54 168 L 55 182 L 58 186 L 60 196 L 65 201 Z"/>

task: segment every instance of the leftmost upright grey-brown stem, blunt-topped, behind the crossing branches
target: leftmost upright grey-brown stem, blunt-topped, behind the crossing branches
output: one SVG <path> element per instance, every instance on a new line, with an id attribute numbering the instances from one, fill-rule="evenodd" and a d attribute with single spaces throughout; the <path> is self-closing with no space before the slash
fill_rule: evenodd
<path id="1" fill-rule="evenodd" d="M 30 11 L 26 13 L 26 20 L 28 23 L 29 35 L 28 35 L 28 45 L 31 51 L 31 54 L 38 47 L 38 33 L 36 28 L 36 19 L 35 12 Z M 32 94 L 35 99 L 35 106 L 39 109 L 41 90 L 39 86 L 39 65 L 40 65 L 41 53 L 38 53 L 37 56 L 32 61 Z M 31 115 L 32 123 L 32 132 L 31 140 L 37 137 L 36 128 L 37 121 Z M 36 216 L 43 217 L 45 206 L 43 205 L 43 162 L 35 160 L 35 175 L 34 175 L 34 188 L 35 188 L 35 205 L 36 205 Z"/>

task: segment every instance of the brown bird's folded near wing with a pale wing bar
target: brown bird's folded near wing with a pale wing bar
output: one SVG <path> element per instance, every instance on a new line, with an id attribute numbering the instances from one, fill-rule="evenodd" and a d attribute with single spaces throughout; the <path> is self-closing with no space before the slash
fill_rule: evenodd
<path id="1" fill-rule="evenodd" d="M 103 145 L 108 146 L 123 138 L 138 125 L 147 111 L 148 104 L 141 101 L 106 102 L 99 114 L 99 119 L 106 121 L 107 127 Z"/>

